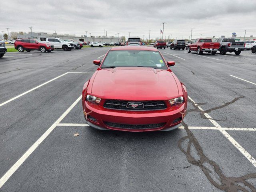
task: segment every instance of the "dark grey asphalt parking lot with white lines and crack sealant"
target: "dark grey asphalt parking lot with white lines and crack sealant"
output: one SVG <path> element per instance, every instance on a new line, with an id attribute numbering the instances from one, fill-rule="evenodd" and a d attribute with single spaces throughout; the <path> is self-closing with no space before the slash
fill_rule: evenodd
<path id="1" fill-rule="evenodd" d="M 176 62 L 188 112 L 177 130 L 134 133 L 83 116 L 83 85 L 108 49 L 0 60 L 1 192 L 256 191 L 256 54 L 160 50 Z"/>

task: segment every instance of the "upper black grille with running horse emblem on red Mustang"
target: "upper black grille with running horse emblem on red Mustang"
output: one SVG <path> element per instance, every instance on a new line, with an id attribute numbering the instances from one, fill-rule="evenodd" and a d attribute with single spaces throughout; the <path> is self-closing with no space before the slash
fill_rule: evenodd
<path id="1" fill-rule="evenodd" d="M 132 107 L 129 104 L 138 104 L 138 106 Z M 166 103 L 164 101 L 128 101 L 128 100 L 106 100 L 104 108 L 117 109 L 117 110 L 161 110 L 166 109 Z"/>

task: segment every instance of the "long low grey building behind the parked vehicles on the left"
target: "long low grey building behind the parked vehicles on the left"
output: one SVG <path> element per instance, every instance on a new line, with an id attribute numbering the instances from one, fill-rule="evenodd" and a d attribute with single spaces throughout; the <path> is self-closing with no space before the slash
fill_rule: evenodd
<path id="1" fill-rule="evenodd" d="M 64 40 L 74 40 L 74 41 L 90 41 L 90 42 L 119 42 L 119 38 L 114 38 L 114 37 L 105 37 L 105 36 L 91 36 L 91 37 L 86 37 L 86 35 L 77 37 L 75 34 L 57 34 L 57 33 L 45 33 L 45 32 L 32 32 L 24 35 L 17 35 L 18 39 L 22 38 L 33 38 L 33 39 L 38 39 L 41 41 L 46 41 L 46 38 L 61 38 Z"/>

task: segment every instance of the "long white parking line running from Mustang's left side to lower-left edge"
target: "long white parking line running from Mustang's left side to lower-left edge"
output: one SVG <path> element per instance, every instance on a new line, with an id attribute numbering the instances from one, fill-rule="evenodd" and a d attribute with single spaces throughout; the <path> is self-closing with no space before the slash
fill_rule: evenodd
<path id="1" fill-rule="evenodd" d="M 54 130 L 54 128 L 59 124 L 64 117 L 74 108 L 74 106 L 81 100 L 82 95 L 48 128 L 46 132 L 22 155 L 22 157 L 2 176 L 0 179 L 0 188 L 5 184 L 5 182 L 14 174 L 14 172 L 24 163 L 24 161 L 32 154 L 34 150 L 44 141 L 44 139 Z"/>

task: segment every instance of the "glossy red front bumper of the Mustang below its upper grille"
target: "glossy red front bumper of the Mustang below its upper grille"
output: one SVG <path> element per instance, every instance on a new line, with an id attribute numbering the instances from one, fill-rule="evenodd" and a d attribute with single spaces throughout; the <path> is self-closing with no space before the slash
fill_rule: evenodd
<path id="1" fill-rule="evenodd" d="M 187 103 L 169 107 L 165 110 L 154 111 L 124 111 L 106 109 L 103 106 L 83 101 L 84 117 L 88 124 L 96 129 L 101 130 L 120 130 L 129 132 L 145 132 L 158 130 L 174 130 L 178 128 L 185 116 Z M 96 122 L 91 120 L 96 119 Z M 126 128 L 117 126 L 108 126 L 107 123 L 126 125 Z M 108 123 L 109 124 L 109 123 Z M 144 126 L 144 125 L 161 124 L 153 128 L 129 128 L 127 125 Z"/>

